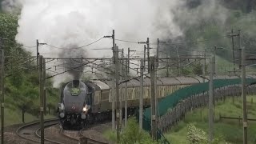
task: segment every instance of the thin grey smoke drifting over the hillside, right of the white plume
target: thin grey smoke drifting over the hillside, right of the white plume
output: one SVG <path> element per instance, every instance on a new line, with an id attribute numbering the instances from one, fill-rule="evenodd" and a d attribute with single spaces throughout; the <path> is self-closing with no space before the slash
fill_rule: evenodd
<path id="1" fill-rule="evenodd" d="M 179 7 L 172 9 L 173 21 L 184 34 L 169 39 L 168 42 L 174 45 L 161 46 L 160 48 L 165 53 L 160 54 L 163 57 L 170 55 L 174 58 L 177 57 L 177 54 L 196 55 L 199 54 L 198 50 L 209 48 L 210 45 L 215 46 L 217 43 L 210 41 L 207 43 L 209 46 L 206 46 L 204 44 L 200 45 L 200 42 L 196 41 L 216 38 L 218 34 L 224 36 L 230 33 L 230 27 L 226 27 L 226 19 L 229 17 L 230 11 L 219 2 L 221 0 L 183 0 Z M 214 27 L 216 28 L 214 29 Z M 208 38 L 203 37 L 206 33 L 208 33 Z"/>

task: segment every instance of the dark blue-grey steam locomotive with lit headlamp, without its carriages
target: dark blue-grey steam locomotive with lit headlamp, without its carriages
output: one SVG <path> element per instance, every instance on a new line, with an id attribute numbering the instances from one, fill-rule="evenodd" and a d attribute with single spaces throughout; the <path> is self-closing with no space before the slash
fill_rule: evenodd
<path id="1" fill-rule="evenodd" d="M 91 106 L 90 91 L 84 82 L 74 80 L 62 88 L 58 117 L 63 130 L 80 130 L 86 125 Z"/>

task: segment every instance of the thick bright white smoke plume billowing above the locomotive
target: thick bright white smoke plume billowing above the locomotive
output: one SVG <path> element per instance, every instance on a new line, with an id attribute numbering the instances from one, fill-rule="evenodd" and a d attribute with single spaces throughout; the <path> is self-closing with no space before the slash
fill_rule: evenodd
<path id="1" fill-rule="evenodd" d="M 7 1 L 10 0 L 5 0 Z M 146 41 L 147 37 L 153 43 L 156 42 L 156 38 L 180 37 L 183 30 L 179 26 L 181 22 L 197 22 L 198 18 L 197 12 L 193 13 L 194 15 L 189 13 L 185 0 L 12 0 L 12 2 L 22 2 L 17 42 L 24 46 L 34 46 L 36 39 L 39 42 L 46 42 L 48 46 L 41 46 L 39 52 L 44 57 L 51 58 L 66 56 L 63 54 L 65 53 L 63 49 L 56 47 L 85 46 L 104 35 L 111 35 L 112 30 L 115 30 L 116 38 L 134 42 Z M 206 0 L 206 2 L 211 1 Z M 11 6 L 15 5 L 11 4 L 10 10 Z M 210 7 L 214 8 L 214 6 Z M 177 18 L 181 18 L 182 21 Z M 189 20 L 186 21 L 186 18 Z M 143 50 L 142 45 L 119 41 L 116 43 L 125 51 L 128 47 L 132 50 Z M 103 38 L 94 45 L 84 47 L 83 50 L 86 50 L 87 57 L 110 57 L 111 46 L 111 39 Z M 93 50 L 94 48 L 106 48 L 106 50 L 98 51 Z M 26 50 L 36 54 L 35 49 Z M 72 57 L 80 58 L 81 54 Z"/>

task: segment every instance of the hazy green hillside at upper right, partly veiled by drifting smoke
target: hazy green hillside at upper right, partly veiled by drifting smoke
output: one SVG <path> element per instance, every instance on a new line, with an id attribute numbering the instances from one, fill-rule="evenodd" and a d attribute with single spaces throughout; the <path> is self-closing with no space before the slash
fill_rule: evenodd
<path id="1" fill-rule="evenodd" d="M 246 3 L 248 2 L 248 3 Z M 216 50 L 216 55 L 227 62 L 239 65 L 240 51 L 238 36 L 234 37 L 234 58 L 231 30 L 238 34 L 240 30 L 241 47 L 246 49 L 246 58 L 256 54 L 256 2 L 255 1 L 187 1 L 186 7 L 174 11 L 175 22 L 182 29 L 183 35 L 168 40 L 169 45 L 162 45 L 161 51 L 166 51 L 170 57 L 178 55 L 214 54 L 214 46 L 222 48 Z M 250 3 L 250 8 L 247 5 Z M 172 63 L 175 63 L 172 62 Z M 182 65 L 186 65 L 184 62 Z M 253 62 L 246 62 L 250 65 Z M 219 63 L 219 65 L 223 65 Z M 190 68 L 189 68 L 190 69 Z M 174 70 L 174 69 L 173 69 Z M 185 72 L 187 74 L 187 72 Z"/>

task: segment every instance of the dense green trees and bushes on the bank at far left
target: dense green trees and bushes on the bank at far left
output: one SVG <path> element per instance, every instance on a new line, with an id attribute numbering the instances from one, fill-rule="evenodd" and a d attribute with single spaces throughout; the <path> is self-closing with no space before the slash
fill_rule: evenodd
<path id="1" fill-rule="evenodd" d="M 0 14 L 0 35 L 2 48 L 5 55 L 14 57 L 6 58 L 5 66 L 5 97 L 6 108 L 10 110 L 21 110 L 22 121 L 24 114 L 29 113 L 38 116 L 38 71 L 34 63 L 18 57 L 28 57 L 30 54 L 15 42 L 17 34 L 18 17 L 10 14 Z M 58 101 L 58 90 L 54 90 L 52 82 L 47 82 L 47 106 L 53 108 Z M 50 97 L 49 97 L 50 96 Z"/>

